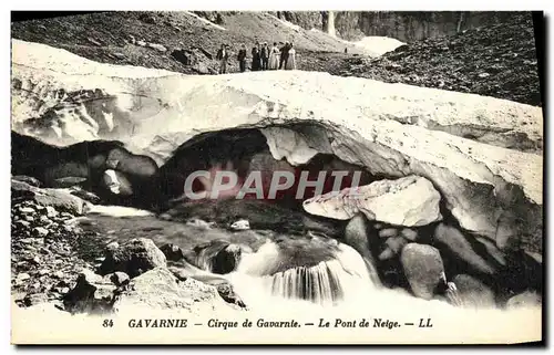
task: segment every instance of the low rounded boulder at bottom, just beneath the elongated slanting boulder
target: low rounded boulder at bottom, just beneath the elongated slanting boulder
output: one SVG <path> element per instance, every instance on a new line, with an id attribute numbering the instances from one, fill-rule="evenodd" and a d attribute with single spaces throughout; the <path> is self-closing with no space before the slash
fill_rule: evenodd
<path id="1" fill-rule="evenodd" d="M 463 307 L 490 309 L 496 305 L 494 292 L 478 279 L 458 274 L 452 279 L 456 288 L 456 303 Z"/>

